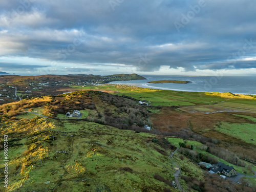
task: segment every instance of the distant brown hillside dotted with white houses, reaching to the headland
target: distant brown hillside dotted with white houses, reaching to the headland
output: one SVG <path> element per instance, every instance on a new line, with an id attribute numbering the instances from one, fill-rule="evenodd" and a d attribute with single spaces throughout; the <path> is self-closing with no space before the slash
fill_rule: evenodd
<path id="1" fill-rule="evenodd" d="M 137 74 L 117 75 L 40 75 L 18 76 L 0 75 L 0 104 L 13 102 L 19 98 L 59 95 L 79 91 L 74 86 L 99 85 L 111 81 L 145 79 Z M 17 89 L 17 90 L 16 90 Z"/>

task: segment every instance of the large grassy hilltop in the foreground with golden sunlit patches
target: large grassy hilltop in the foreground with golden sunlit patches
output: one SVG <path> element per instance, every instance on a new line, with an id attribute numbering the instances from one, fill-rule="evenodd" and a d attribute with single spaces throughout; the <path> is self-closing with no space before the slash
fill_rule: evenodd
<path id="1" fill-rule="evenodd" d="M 155 180 L 155 174 L 174 180 L 175 170 L 168 156 L 155 148 L 164 149 L 156 143 L 145 142 L 150 134 L 143 136 L 144 133 L 136 134 L 87 121 L 48 118 L 46 121 L 45 118 L 21 119 L 10 122 L 8 127 L 11 129 L 1 130 L 1 135 L 23 138 L 17 143 L 32 141 L 10 148 L 9 174 L 12 177 L 6 191 L 28 191 L 31 188 L 41 191 L 55 186 L 59 191 L 78 191 L 81 188 L 95 191 L 104 187 L 112 191 L 132 191 L 134 188 L 162 191 L 169 186 Z M 38 133 L 36 129 L 45 132 Z M 51 139 L 52 136 L 56 139 Z M 26 152 L 30 148 L 32 150 Z M 127 172 L 122 167 L 129 167 L 132 171 Z M 62 184 L 57 185 L 60 180 Z M 51 183 L 45 184 L 47 181 Z"/>

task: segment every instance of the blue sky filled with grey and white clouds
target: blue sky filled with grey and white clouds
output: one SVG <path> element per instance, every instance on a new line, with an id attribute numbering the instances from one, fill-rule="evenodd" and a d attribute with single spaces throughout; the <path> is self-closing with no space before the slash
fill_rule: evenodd
<path id="1" fill-rule="evenodd" d="M 0 71 L 255 75 L 255 0 L 0 1 Z"/>

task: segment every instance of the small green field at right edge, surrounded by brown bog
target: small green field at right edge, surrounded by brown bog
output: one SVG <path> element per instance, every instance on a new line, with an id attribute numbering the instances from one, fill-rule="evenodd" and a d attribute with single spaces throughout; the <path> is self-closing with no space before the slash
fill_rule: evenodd
<path id="1" fill-rule="evenodd" d="M 255 119 L 255 118 L 253 118 Z M 220 122 L 215 130 L 256 145 L 256 124 Z"/>

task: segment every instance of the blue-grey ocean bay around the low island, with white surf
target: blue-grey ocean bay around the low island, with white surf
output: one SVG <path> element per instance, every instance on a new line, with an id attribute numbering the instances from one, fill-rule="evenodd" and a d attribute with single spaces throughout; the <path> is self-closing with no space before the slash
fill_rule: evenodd
<path id="1" fill-rule="evenodd" d="M 113 84 L 128 84 L 130 86 L 174 90 L 189 92 L 231 92 L 234 94 L 251 94 L 256 95 L 256 78 L 255 76 L 148 76 L 147 79 L 114 81 Z M 191 83 L 147 83 L 147 81 L 156 80 L 185 80 Z"/>

